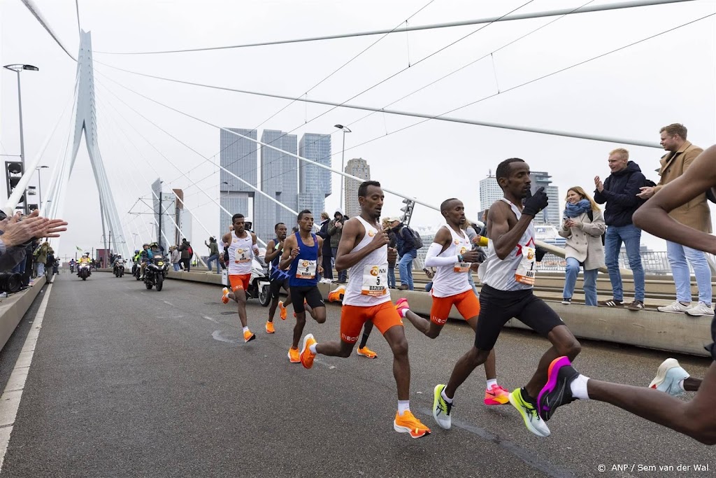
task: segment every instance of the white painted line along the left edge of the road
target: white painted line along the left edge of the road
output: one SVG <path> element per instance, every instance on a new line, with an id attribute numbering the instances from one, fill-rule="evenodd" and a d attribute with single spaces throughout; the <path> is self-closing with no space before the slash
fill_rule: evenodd
<path id="1" fill-rule="evenodd" d="M 34 322 L 32 322 L 32 328 L 27 334 L 25 344 L 20 351 L 20 356 L 15 362 L 15 368 L 13 368 L 5 390 L 2 396 L 0 396 L 0 472 L 2 471 L 2 465 L 5 461 L 7 446 L 10 443 L 10 434 L 15 424 L 17 409 L 20 407 L 22 391 L 25 388 L 27 373 L 30 371 L 32 355 L 34 355 L 37 337 L 42 328 L 42 320 L 44 319 L 45 310 L 47 310 L 47 302 L 49 301 L 49 292 L 51 290 L 52 284 L 49 284 L 44 291 L 42 303 L 37 310 Z"/>

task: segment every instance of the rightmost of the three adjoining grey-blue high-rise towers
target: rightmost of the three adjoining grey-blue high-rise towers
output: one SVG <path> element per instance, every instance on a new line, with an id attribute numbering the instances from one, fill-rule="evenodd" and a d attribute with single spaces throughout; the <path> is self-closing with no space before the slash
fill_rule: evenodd
<path id="1" fill-rule="evenodd" d="M 331 167 L 331 135 L 305 133 L 299 141 L 299 156 Z M 315 164 L 299 161 L 299 207 L 308 209 L 316 223 L 326 207 L 326 196 L 332 192 L 331 171 Z M 329 216 L 333 216 L 329 213 Z"/>

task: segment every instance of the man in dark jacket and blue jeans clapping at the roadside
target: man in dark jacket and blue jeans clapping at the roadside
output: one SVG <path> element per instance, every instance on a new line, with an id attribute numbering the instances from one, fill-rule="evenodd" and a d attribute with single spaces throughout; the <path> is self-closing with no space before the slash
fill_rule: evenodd
<path id="1" fill-rule="evenodd" d="M 641 205 L 637 194 L 646 184 L 647 178 L 637 163 L 629 161 L 629 151 L 617 148 L 609 153 L 609 169 L 611 174 L 604 183 L 599 176 L 594 178 L 594 201 L 606 203 L 604 222 L 604 259 L 609 270 L 612 299 L 599 302 L 606 307 L 624 307 L 624 289 L 621 285 L 619 272 L 619 251 L 621 243 L 627 248 L 629 267 L 634 273 L 634 300 L 627 307 L 629 310 L 644 309 L 644 268 L 639 247 L 642 242 L 642 229 L 634 226 L 632 214 Z"/>

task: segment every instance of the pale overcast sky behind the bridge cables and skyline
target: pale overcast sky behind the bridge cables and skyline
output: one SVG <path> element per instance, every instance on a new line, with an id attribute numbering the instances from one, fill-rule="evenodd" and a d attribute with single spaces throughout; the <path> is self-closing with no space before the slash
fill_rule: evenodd
<path id="1" fill-rule="evenodd" d="M 501 16 L 513 10 L 527 13 L 576 8 L 586 2 L 364 0 L 360 8 L 354 2 L 324 0 L 77 3 L 82 29 L 92 32 L 95 62 L 135 72 L 291 97 L 306 95 L 333 102 L 350 99 L 352 104 L 386 107 L 458 67 L 485 57 L 390 107 L 437 115 L 486 98 L 450 116 L 654 145 L 659 143 L 659 128 L 683 123 L 692 143 L 702 148 L 716 143 L 716 16 L 579 64 L 713 14 L 716 3 L 710 0 L 569 15 L 523 39 L 520 37 L 556 17 L 397 32 L 382 39 L 353 37 L 147 55 L 100 52 L 315 37 L 392 29 L 400 24 L 405 27 L 406 19 L 412 26 Z M 589 2 L 609 3 L 612 2 Z M 77 54 L 75 2 L 34 0 L 34 4 L 67 49 Z M 359 54 L 371 44 L 374 45 Z M 354 57 L 347 66 L 321 81 Z M 39 67 L 38 72 L 23 72 L 21 76 L 27 161 L 39 154 L 45 138 L 59 121 L 57 133 L 42 156 L 42 164 L 49 166 L 42 170 L 42 189 L 47 191 L 64 156 L 71 126 L 67 105 L 72 100 L 76 64 L 19 0 L 0 0 L 0 60 L 2 64 Z M 579 65 L 539 79 L 575 64 Z M 518 86 L 531 80 L 536 81 Z M 184 190 L 186 206 L 201 218 L 211 235 L 220 234 L 219 209 L 211 202 L 219 197 L 219 130 L 118 84 L 209 123 L 231 128 L 258 126 L 259 137 L 263 129 L 293 130 L 292 134 L 299 138 L 303 133 L 332 134 L 334 166 L 341 160 L 342 133 L 333 125 L 349 125 L 353 132 L 346 136 L 346 160 L 364 158 L 373 179 L 426 203 L 439 205 L 448 197 L 463 199 L 468 216 L 473 217 L 480 209 L 478 182 L 505 158 L 523 158 L 534 171 L 548 171 L 560 193 L 566 194 L 571 186 L 593 191 L 594 176 L 606 178 L 609 174 L 609 151 L 624 146 L 618 141 L 565 138 L 438 120 L 401 130 L 422 119 L 384 113 L 364 118 L 368 113 L 361 110 L 304 102 L 289 105 L 287 100 L 178 85 L 95 63 L 100 149 L 127 241 L 130 236 L 137 241 L 149 239 L 144 223 L 152 221 L 151 216 L 132 215 L 130 211 L 150 212 L 147 206 L 135 203 L 140 197 L 150 197 L 149 185 L 158 176 L 155 170 L 165 186 Z M 626 147 L 647 177 L 658 181 L 654 169 L 664 152 L 659 148 Z M 16 76 L 1 70 L 0 154 L 18 153 Z M 190 186 L 179 171 L 188 173 L 203 191 Z M 334 193 L 326 199 L 328 211 L 339 204 L 339 176 L 334 175 L 333 181 Z M 37 184 L 37 177 L 32 184 Z M 384 215 L 400 215 L 401 201 L 387 194 Z M 74 256 L 76 247 L 102 247 L 97 187 L 84 145 L 72 171 L 62 216 L 70 223 L 60 243 L 62 257 Z M 418 205 L 412 224 L 440 224 L 440 217 L 437 211 Z M 200 244 L 208 235 L 195 220 L 193 242 Z M 642 236 L 642 243 L 654 250 L 665 250 L 661 239 L 647 234 Z"/>

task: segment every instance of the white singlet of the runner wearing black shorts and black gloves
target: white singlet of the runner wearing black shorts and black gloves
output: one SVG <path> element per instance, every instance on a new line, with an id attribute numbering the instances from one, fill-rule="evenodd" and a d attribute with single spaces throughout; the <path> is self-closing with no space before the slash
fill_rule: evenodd
<path id="1" fill-rule="evenodd" d="M 522 212 L 517 206 L 505 198 L 502 201 L 509 204 L 517 220 Z M 531 289 L 535 283 L 535 227 L 530 222 L 522 234 L 515 249 L 500 259 L 495 252 L 495 243 L 492 239 L 488 244 L 488 259 L 480 264 L 480 279 L 497 290 L 525 290 Z"/>

